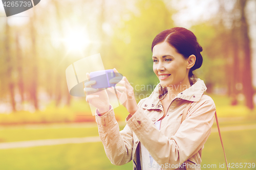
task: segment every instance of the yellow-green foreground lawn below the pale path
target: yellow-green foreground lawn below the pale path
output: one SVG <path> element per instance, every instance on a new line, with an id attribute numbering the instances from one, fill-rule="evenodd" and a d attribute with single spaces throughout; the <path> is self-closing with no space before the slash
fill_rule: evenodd
<path id="1" fill-rule="evenodd" d="M 230 163 L 256 163 L 256 130 L 223 132 L 223 141 Z M 101 142 L 61 144 L 46 147 L 0 150 L 0 169 L 132 169 L 132 162 L 116 166 L 106 157 Z M 212 133 L 202 152 L 202 163 L 225 162 L 218 133 Z M 256 169 L 256 168 L 240 168 Z"/>

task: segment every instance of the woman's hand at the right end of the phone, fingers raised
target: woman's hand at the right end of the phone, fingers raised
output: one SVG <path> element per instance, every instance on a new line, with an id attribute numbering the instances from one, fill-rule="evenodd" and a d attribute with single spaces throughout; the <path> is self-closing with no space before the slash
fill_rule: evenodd
<path id="1" fill-rule="evenodd" d="M 118 72 L 116 68 L 114 68 L 114 72 Z M 110 83 L 121 85 L 121 86 L 115 86 L 118 99 L 122 103 L 122 105 L 127 109 L 127 111 L 133 115 L 138 110 L 138 105 L 135 100 L 134 89 L 129 83 L 129 81 L 126 79 L 126 77 L 123 77 L 121 81 L 120 81 L 120 78 L 115 77 L 110 80 Z M 115 90 L 113 87 L 108 88 L 108 90 L 111 91 L 112 93 L 115 93 Z"/>

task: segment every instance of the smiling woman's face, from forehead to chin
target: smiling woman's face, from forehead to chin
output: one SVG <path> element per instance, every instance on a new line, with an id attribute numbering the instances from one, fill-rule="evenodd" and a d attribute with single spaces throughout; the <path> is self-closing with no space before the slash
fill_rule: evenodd
<path id="1" fill-rule="evenodd" d="M 188 61 L 167 42 L 156 44 L 153 48 L 153 70 L 162 87 L 183 86 L 188 81 Z M 183 88 L 183 87 L 182 87 Z M 188 88 L 188 87 L 187 87 Z"/>

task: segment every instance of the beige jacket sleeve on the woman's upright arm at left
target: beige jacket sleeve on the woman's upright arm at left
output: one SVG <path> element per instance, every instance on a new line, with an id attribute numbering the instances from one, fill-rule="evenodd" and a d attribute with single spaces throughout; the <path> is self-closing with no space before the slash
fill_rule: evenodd
<path id="1" fill-rule="evenodd" d="M 141 101 L 138 105 L 140 105 Z M 125 126 L 119 132 L 113 108 L 103 116 L 96 116 L 98 132 L 103 143 L 106 156 L 114 165 L 123 165 L 132 160 L 133 132 Z"/>

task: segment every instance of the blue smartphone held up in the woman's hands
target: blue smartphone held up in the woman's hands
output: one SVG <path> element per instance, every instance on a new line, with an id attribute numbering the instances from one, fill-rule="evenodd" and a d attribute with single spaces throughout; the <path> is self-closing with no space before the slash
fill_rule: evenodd
<path id="1" fill-rule="evenodd" d="M 100 70 L 90 72 L 90 80 L 95 80 L 96 84 L 92 85 L 92 88 L 108 88 L 115 86 L 116 84 L 112 84 L 109 81 L 116 77 L 116 73 L 113 69 Z"/>

